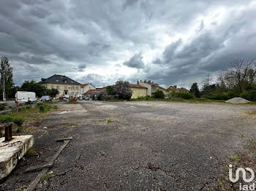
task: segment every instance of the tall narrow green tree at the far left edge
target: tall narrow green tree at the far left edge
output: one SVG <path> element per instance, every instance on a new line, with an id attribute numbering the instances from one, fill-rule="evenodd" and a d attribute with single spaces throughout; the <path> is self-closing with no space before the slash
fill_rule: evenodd
<path id="1" fill-rule="evenodd" d="M 3 101 L 6 101 L 7 95 L 12 94 L 12 67 L 10 66 L 9 60 L 7 57 L 1 57 L 1 91 L 3 93 Z"/>

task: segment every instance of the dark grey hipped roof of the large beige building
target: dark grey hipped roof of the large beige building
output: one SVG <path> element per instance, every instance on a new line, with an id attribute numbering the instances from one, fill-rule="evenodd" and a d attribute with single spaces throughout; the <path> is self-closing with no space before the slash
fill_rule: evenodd
<path id="1" fill-rule="evenodd" d="M 76 82 L 74 79 L 71 79 L 69 77 L 62 76 L 62 75 L 56 75 L 56 74 L 46 79 L 42 78 L 42 81 L 39 82 L 39 84 L 46 84 L 46 83 L 64 84 L 64 85 L 80 85 L 80 83 Z"/>

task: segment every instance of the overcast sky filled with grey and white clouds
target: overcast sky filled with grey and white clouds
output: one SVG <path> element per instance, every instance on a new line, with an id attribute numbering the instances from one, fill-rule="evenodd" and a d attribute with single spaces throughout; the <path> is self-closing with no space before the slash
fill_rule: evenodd
<path id="1" fill-rule="evenodd" d="M 16 85 L 65 74 L 97 87 L 118 79 L 190 87 L 256 50 L 249 0 L 2 0 L 0 23 L 0 55 Z"/>

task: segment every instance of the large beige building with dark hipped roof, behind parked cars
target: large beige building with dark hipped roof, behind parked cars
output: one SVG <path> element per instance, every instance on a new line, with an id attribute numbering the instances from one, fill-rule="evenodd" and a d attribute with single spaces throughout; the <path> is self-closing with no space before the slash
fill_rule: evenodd
<path id="1" fill-rule="evenodd" d="M 80 94 L 80 83 L 66 76 L 54 74 L 48 78 L 42 78 L 39 84 L 48 89 L 59 90 L 59 95 L 78 96 Z"/>

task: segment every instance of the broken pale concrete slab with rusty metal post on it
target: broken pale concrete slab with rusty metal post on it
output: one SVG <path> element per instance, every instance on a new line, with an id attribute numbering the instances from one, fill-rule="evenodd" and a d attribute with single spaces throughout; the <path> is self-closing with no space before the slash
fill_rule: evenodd
<path id="1" fill-rule="evenodd" d="M 13 136 L 11 141 L 5 142 L 4 137 L 0 138 L 0 179 L 8 176 L 15 168 L 23 155 L 34 144 L 34 137 Z"/>

